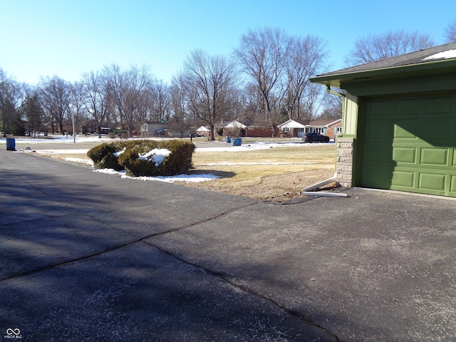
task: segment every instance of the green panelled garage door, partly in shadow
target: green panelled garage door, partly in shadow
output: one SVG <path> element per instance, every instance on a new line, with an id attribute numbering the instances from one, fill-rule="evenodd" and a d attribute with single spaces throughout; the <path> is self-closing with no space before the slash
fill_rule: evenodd
<path id="1" fill-rule="evenodd" d="M 456 197 L 456 93 L 366 98 L 363 187 Z"/>

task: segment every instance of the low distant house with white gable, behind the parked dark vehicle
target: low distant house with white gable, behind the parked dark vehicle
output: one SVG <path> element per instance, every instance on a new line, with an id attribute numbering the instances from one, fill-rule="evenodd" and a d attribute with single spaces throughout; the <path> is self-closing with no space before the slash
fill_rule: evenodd
<path id="1" fill-rule="evenodd" d="M 333 139 L 342 131 L 342 119 L 332 120 L 286 120 L 277 126 L 279 135 L 301 138 L 306 133 L 321 133 Z"/>

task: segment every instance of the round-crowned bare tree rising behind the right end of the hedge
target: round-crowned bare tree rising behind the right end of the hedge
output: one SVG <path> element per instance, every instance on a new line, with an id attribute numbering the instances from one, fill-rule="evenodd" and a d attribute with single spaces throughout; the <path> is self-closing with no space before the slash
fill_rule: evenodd
<path id="1" fill-rule="evenodd" d="M 234 63 L 195 50 L 184 63 L 181 81 L 188 108 L 209 125 L 211 140 L 215 140 L 214 124 L 227 111 L 237 86 Z"/>

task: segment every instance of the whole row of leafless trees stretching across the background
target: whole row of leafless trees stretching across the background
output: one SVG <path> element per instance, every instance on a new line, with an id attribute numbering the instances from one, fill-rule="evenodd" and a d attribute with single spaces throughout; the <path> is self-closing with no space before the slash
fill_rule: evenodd
<path id="1" fill-rule="evenodd" d="M 445 40 L 456 41 L 456 20 L 445 28 Z M 345 62 L 353 66 L 431 46 L 425 33 L 391 31 L 358 38 Z M 76 133 L 85 133 L 91 120 L 97 133 L 120 128 L 131 136 L 142 123 L 165 120 L 181 130 L 207 125 L 214 139 L 214 125 L 231 120 L 274 130 L 287 119 L 340 118 L 340 98 L 309 82 L 329 70 L 329 56 L 321 37 L 266 27 L 244 33 L 231 56 L 192 51 L 170 84 L 147 66 L 112 64 L 77 82 L 53 76 L 36 86 L 16 82 L 0 68 L 0 129 L 5 136 L 63 134 L 75 120 Z"/>

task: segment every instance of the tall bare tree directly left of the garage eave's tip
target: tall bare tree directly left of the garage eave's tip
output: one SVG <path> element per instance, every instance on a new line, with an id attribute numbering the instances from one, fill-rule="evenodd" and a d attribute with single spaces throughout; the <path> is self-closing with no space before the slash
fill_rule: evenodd
<path id="1" fill-rule="evenodd" d="M 292 37 L 288 57 L 286 112 L 290 119 L 311 119 L 321 87 L 314 87 L 309 77 L 323 71 L 328 51 L 323 40 L 317 36 Z"/>

